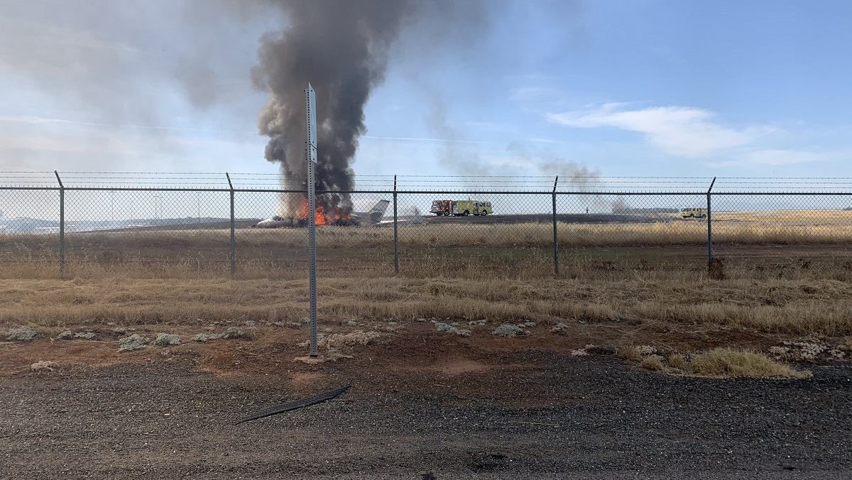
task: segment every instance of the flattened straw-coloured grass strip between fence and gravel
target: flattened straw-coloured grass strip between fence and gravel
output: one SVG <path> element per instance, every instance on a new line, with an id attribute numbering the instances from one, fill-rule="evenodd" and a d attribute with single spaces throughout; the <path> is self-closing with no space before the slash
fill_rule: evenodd
<path id="1" fill-rule="evenodd" d="M 768 334 L 852 333 L 852 285 L 834 280 L 320 280 L 327 321 L 418 317 L 530 320 Z M 64 327 L 297 321 L 304 280 L 0 280 L 0 324 Z"/>

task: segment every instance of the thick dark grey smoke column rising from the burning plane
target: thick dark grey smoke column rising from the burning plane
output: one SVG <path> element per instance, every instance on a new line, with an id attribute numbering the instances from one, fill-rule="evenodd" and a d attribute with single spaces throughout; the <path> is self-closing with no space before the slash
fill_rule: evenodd
<path id="1" fill-rule="evenodd" d="M 260 133 L 269 137 L 266 159 L 278 162 L 285 187 L 305 182 L 305 100 L 310 82 L 316 91 L 318 189 L 354 188 L 351 162 L 366 132 L 364 107 L 383 81 L 389 47 L 412 12 L 412 0 L 339 2 L 287 0 L 290 26 L 261 38 L 259 62 L 252 70 L 257 88 L 270 96 L 260 113 Z M 287 197 L 280 213 L 297 217 L 300 195 Z M 352 211 L 348 194 L 325 196 L 325 211 Z"/>

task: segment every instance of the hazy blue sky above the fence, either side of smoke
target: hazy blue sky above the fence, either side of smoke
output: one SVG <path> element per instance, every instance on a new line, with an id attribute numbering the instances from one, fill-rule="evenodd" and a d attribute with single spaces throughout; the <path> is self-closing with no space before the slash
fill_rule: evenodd
<path id="1" fill-rule="evenodd" d="M 0 0 L 0 170 L 275 171 L 249 72 L 286 19 L 218 3 Z M 852 176 L 852 3 L 489 4 L 402 32 L 357 174 Z"/>

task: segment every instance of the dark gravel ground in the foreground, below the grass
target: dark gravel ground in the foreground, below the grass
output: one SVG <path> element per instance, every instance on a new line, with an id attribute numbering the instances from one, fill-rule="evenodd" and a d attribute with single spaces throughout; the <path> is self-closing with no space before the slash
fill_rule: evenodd
<path id="1" fill-rule="evenodd" d="M 317 368 L 317 385 L 189 357 L 0 378 L 0 477 L 849 478 L 852 369 L 797 381 L 510 353 L 447 377 Z M 308 373 L 311 375 L 313 373 Z M 331 402 L 233 425 L 350 383 Z M 297 395 L 296 395 L 297 393 Z"/>

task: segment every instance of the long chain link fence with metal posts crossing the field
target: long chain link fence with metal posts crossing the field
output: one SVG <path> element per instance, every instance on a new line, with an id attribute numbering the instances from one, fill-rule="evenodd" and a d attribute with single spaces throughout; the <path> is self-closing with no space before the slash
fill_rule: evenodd
<path id="1" fill-rule="evenodd" d="M 166 177 L 130 187 L 55 176 L 53 184 L 0 187 L 5 275 L 307 273 L 306 214 L 282 210 L 305 192 L 270 187 L 280 178 L 169 186 Z M 442 186 L 454 189 L 420 189 L 386 177 L 361 182 L 373 188 L 320 192 L 351 205 L 317 229 L 320 274 L 623 278 L 712 274 L 708 262 L 852 270 L 852 192 L 843 188 L 744 191 L 738 179 L 715 188 L 700 179 L 652 191 L 644 180 L 602 188 L 597 180 L 561 186 L 536 178 L 533 188 L 509 184 L 514 191 L 471 178 L 445 177 Z"/>

